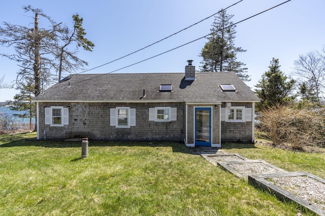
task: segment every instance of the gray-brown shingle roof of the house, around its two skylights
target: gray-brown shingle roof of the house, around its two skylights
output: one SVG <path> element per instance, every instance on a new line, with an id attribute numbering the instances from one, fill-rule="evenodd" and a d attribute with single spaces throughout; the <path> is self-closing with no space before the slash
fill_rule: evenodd
<path id="1" fill-rule="evenodd" d="M 160 84 L 172 84 L 172 92 L 159 92 Z M 233 84 L 236 92 L 222 92 L 220 84 Z M 234 72 L 197 72 L 194 81 L 184 80 L 184 73 L 75 74 L 45 90 L 35 101 L 140 102 L 143 90 L 146 97 L 141 102 L 259 101 Z"/>

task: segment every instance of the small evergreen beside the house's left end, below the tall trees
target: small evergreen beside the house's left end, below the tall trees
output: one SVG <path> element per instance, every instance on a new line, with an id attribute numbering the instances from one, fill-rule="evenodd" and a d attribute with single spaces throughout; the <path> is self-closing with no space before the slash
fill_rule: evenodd
<path id="1" fill-rule="evenodd" d="M 14 105 L 10 107 L 11 110 L 24 111 L 23 114 L 14 114 L 19 118 L 29 118 L 29 128 L 32 129 L 31 119 L 35 117 L 36 106 L 35 103 L 31 102 L 34 97 L 35 84 L 33 79 L 29 77 L 26 84 L 21 85 L 21 90 L 19 94 L 14 96 Z"/>

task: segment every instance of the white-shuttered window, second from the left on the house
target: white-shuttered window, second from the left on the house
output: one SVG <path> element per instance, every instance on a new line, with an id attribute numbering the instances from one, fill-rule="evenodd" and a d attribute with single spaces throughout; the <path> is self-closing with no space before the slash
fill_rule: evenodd
<path id="1" fill-rule="evenodd" d="M 110 109 L 110 125 L 129 128 L 136 126 L 136 109 L 116 107 Z"/>

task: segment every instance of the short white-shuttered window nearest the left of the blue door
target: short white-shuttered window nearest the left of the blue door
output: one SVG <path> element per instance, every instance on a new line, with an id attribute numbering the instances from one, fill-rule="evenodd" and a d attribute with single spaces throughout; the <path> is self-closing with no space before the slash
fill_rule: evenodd
<path id="1" fill-rule="evenodd" d="M 149 108 L 149 121 L 176 121 L 177 108 L 155 107 Z"/>

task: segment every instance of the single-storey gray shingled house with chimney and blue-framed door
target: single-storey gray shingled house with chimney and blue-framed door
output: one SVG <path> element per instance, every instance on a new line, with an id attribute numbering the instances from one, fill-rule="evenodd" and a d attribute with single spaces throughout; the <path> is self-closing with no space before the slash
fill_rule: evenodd
<path id="1" fill-rule="evenodd" d="M 258 97 L 234 72 L 74 74 L 37 103 L 37 138 L 254 142 Z"/>

